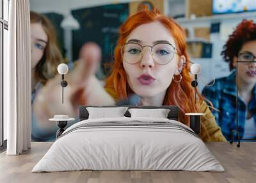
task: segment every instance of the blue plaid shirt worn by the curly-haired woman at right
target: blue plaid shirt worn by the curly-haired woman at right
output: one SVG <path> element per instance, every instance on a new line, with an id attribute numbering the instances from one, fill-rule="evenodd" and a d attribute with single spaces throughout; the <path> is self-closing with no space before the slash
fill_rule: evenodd
<path id="1" fill-rule="evenodd" d="M 216 122 L 221 127 L 221 131 L 227 140 L 230 140 L 232 131 L 236 129 L 236 71 L 227 77 L 216 79 L 214 86 L 205 87 L 202 95 L 216 108 L 212 110 Z M 246 104 L 238 97 L 238 128 L 240 138 L 244 135 L 244 125 L 246 122 Z M 252 113 L 256 123 L 256 87 L 253 88 L 252 99 L 248 104 L 248 111 Z M 234 134 L 234 137 L 236 134 Z"/>

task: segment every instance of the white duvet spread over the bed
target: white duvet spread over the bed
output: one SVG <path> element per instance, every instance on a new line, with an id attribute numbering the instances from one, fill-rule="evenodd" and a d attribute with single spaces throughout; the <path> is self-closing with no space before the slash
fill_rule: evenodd
<path id="1" fill-rule="evenodd" d="M 225 171 L 204 142 L 190 132 L 170 127 L 86 127 L 93 122 L 170 122 L 163 118 L 84 120 L 69 127 L 32 172 L 73 170 Z M 75 129 L 75 130 L 74 130 Z M 189 129 L 191 131 L 191 129 Z"/>

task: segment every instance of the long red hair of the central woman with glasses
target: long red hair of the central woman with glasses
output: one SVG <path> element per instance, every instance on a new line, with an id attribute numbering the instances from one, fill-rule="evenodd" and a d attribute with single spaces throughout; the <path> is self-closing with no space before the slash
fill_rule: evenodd
<path id="1" fill-rule="evenodd" d="M 112 72 L 108 79 L 106 79 L 106 88 L 114 90 L 118 95 L 118 99 L 120 100 L 127 99 L 131 93 L 134 93 L 127 83 L 127 76 L 122 64 L 122 45 L 124 45 L 127 41 L 127 36 L 129 36 L 130 33 L 138 26 L 155 21 L 161 22 L 161 24 L 163 24 L 170 31 L 175 40 L 175 44 L 177 45 L 179 56 L 183 55 L 186 58 L 186 65 L 180 73 L 182 75 L 182 80 L 180 83 L 172 82 L 170 84 L 166 91 L 163 105 L 178 106 L 180 109 L 180 121 L 186 125 L 189 125 L 188 116 L 186 116 L 185 113 L 198 112 L 198 106 L 195 105 L 195 89 L 191 86 L 192 78 L 189 75 L 191 63 L 186 51 L 186 36 L 183 29 L 179 26 L 179 24 L 177 24 L 177 22 L 175 22 L 175 20 L 161 15 L 158 10 L 143 10 L 138 12 L 127 19 L 120 27 L 120 37 L 115 47 L 115 61 L 113 62 Z M 174 77 L 175 81 L 179 81 L 179 76 Z M 202 100 L 200 93 L 197 92 L 197 94 L 198 98 Z"/>

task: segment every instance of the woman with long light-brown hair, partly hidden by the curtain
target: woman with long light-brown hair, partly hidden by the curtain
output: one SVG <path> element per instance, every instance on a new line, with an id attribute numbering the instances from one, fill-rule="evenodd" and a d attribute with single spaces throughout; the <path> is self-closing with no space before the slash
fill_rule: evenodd
<path id="1" fill-rule="evenodd" d="M 52 123 L 39 123 L 34 111 L 36 93 L 57 74 L 57 67 L 63 62 L 56 44 L 54 28 L 44 15 L 30 12 L 31 22 L 31 103 L 32 141 L 48 141 L 55 138 L 56 126 Z"/>

